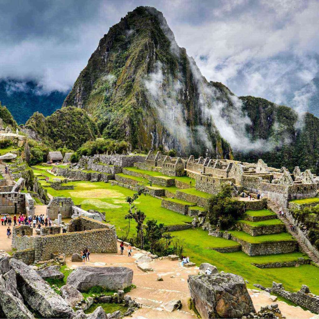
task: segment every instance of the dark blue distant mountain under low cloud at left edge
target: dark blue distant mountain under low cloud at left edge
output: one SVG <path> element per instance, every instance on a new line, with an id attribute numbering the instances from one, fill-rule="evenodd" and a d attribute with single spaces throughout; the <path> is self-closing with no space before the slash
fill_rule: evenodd
<path id="1" fill-rule="evenodd" d="M 8 108 L 19 124 L 25 123 L 36 111 L 45 116 L 51 115 L 61 108 L 66 95 L 59 91 L 43 93 L 34 81 L 0 80 L 1 104 Z"/>

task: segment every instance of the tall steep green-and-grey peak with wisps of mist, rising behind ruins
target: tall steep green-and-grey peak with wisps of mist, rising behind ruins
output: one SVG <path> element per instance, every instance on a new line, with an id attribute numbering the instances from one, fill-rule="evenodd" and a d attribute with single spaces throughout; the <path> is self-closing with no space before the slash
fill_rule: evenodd
<path id="1" fill-rule="evenodd" d="M 100 40 L 63 106 L 84 108 L 104 137 L 133 148 L 231 158 L 209 112 L 211 89 L 162 13 L 138 7 Z"/>

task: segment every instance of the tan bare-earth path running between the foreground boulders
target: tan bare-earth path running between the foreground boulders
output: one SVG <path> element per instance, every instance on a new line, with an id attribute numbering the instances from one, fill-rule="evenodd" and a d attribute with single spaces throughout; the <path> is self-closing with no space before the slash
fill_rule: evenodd
<path id="1" fill-rule="evenodd" d="M 79 247 L 79 252 L 82 247 Z M 189 275 L 198 273 L 198 268 L 182 267 L 178 261 L 170 261 L 168 259 L 156 259 L 151 265 L 154 271 L 146 273 L 137 268 L 134 263 L 136 258 L 140 256 L 139 251 L 133 251 L 132 257 L 118 254 L 95 254 L 90 255 L 90 262 L 85 263 L 87 266 L 107 267 L 122 266 L 133 269 L 133 284 L 136 289 L 132 289 L 129 293 L 132 299 L 142 304 L 142 308 L 133 314 L 133 318 L 143 316 L 145 318 L 196 318 L 188 308 L 188 300 L 190 298 L 187 285 Z M 66 258 L 67 266 L 70 269 L 83 266 L 81 262 L 71 262 L 71 256 Z M 162 277 L 163 281 L 157 281 L 156 278 Z M 272 301 L 269 294 L 256 293 L 255 290 L 249 291 L 256 309 L 261 306 L 270 305 Z M 161 308 L 162 303 L 171 300 L 181 300 L 182 309 L 180 311 L 167 312 Z M 287 318 L 308 319 L 314 314 L 310 311 L 302 310 L 300 307 L 289 306 L 284 302 L 278 302 L 279 308 Z"/>

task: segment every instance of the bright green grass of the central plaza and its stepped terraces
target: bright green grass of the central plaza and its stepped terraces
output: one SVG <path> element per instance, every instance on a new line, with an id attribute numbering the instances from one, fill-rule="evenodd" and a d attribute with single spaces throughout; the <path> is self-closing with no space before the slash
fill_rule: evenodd
<path id="1" fill-rule="evenodd" d="M 55 177 L 47 170 L 50 167 L 35 167 L 35 174 L 44 174 L 50 178 Z M 306 284 L 314 293 L 319 293 L 319 268 L 302 264 L 308 262 L 308 257 L 297 250 L 296 241 L 290 234 L 285 232 L 264 234 L 252 236 L 242 230 L 230 231 L 234 238 L 245 242 L 244 245 L 286 245 L 290 252 L 273 250 L 272 254 L 259 254 L 249 256 L 241 249 L 242 244 L 227 240 L 221 237 L 208 236 L 208 232 L 202 228 L 187 228 L 192 221 L 190 211 L 204 211 L 205 204 L 209 198 L 209 194 L 199 192 L 194 187 L 195 182 L 189 177 L 172 177 L 159 174 L 157 172 L 149 172 L 138 170 L 135 167 L 126 167 L 123 173 L 116 174 L 115 180 L 105 182 L 70 182 L 74 185 L 73 190 L 54 190 L 48 187 L 48 193 L 52 196 L 71 197 L 75 204 L 81 204 L 85 210 L 96 209 L 105 212 L 106 219 L 115 224 L 117 234 L 121 237 L 127 231 L 127 221 L 124 219 L 128 211 L 128 204 L 125 202 L 126 196 L 131 196 L 134 190 L 129 186 L 136 183 L 147 184 L 152 178 L 156 178 L 157 183 L 147 186 L 151 195 L 141 196 L 137 200 L 137 207 L 145 212 L 146 219 L 157 219 L 170 227 L 170 233 L 180 239 L 183 243 L 185 255 L 189 255 L 193 262 L 202 263 L 209 262 L 216 265 L 219 270 L 237 273 L 249 281 L 248 286 L 259 283 L 263 286 L 271 286 L 272 281 L 282 282 L 289 290 L 298 290 L 300 285 Z M 121 180 L 121 181 L 120 181 Z M 173 180 L 171 186 L 163 186 L 167 181 Z M 40 181 L 45 184 L 45 181 Z M 191 183 L 190 183 L 191 182 Z M 170 182 L 171 183 L 171 182 Z M 162 185 L 161 185 L 162 184 Z M 182 188 L 188 187 L 188 188 Z M 152 193 L 152 190 L 160 192 L 161 196 Z M 174 197 L 174 198 L 173 198 Z M 181 207 L 188 206 L 183 213 L 173 211 L 162 206 L 163 200 L 178 203 Z M 130 234 L 135 232 L 135 222 L 131 222 Z M 238 223 L 246 224 L 251 229 L 263 226 L 263 229 L 280 226 L 280 222 L 276 219 L 276 214 L 269 210 L 246 211 L 246 216 Z M 182 230 L 176 229 L 179 225 Z M 279 244 L 278 244 L 279 243 Z M 225 251 L 225 252 L 223 252 Z M 274 252 L 276 252 L 274 254 Z M 300 259 L 301 258 L 301 259 Z M 300 265 L 299 265 L 300 264 Z M 298 265 L 296 267 L 295 265 Z"/>

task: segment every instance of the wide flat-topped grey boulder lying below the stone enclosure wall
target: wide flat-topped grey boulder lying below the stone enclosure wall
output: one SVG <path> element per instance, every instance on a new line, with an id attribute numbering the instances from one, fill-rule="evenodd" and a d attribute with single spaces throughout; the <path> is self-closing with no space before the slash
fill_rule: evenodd
<path id="1" fill-rule="evenodd" d="M 131 286 L 133 270 L 126 267 L 78 267 L 67 279 L 67 285 L 79 291 L 87 291 L 94 286 L 108 290 L 123 290 Z"/>

